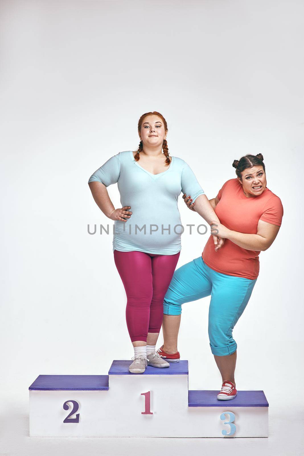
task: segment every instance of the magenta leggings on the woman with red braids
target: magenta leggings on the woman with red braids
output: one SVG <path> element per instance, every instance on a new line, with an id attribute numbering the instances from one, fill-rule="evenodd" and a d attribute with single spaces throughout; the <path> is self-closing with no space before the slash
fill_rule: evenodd
<path id="1" fill-rule="evenodd" d="M 132 342 L 147 342 L 148 332 L 160 331 L 163 300 L 179 254 L 114 250 L 114 261 L 127 294 L 126 320 Z"/>

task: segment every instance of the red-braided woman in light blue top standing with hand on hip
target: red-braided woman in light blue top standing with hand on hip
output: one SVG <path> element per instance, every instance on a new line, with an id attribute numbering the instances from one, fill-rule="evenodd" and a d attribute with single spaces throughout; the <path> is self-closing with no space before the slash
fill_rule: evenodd
<path id="1" fill-rule="evenodd" d="M 192 195 L 196 212 L 208 223 L 219 223 L 191 168 L 181 158 L 169 157 L 167 131 L 162 114 L 143 114 L 138 121 L 138 150 L 112 156 L 89 179 L 96 204 L 115 220 L 113 253 L 127 294 L 127 328 L 134 347 L 132 373 L 144 372 L 147 364 L 169 367 L 155 352 L 155 344 L 162 326 L 163 298 L 181 250 L 177 207 L 181 191 Z M 118 209 L 106 190 L 116 182 L 122 204 Z M 219 250 L 223 239 L 216 235 L 213 239 Z"/>

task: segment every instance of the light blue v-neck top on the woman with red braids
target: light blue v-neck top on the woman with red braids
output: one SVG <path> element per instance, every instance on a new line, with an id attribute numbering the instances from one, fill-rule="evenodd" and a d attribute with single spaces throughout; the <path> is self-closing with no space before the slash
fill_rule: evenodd
<path id="1" fill-rule="evenodd" d="M 186 193 L 194 202 L 204 191 L 181 158 L 172 157 L 168 169 L 155 175 L 139 163 L 132 150 L 125 150 L 106 161 L 89 179 L 106 187 L 117 182 L 122 207 L 131 206 L 127 222 L 114 222 L 113 251 L 176 254 L 181 250 L 183 232 L 178 196 Z"/>

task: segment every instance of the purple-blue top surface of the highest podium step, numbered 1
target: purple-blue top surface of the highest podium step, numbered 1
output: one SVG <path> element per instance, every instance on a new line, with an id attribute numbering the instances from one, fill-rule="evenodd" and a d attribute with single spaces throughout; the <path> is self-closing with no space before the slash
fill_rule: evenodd
<path id="1" fill-rule="evenodd" d="M 180 361 L 179 363 L 170 363 L 168 368 L 152 368 L 147 366 L 145 372 L 131 373 L 129 366 L 132 364 L 132 360 L 114 360 L 109 370 L 109 375 L 188 375 L 188 362 Z"/>

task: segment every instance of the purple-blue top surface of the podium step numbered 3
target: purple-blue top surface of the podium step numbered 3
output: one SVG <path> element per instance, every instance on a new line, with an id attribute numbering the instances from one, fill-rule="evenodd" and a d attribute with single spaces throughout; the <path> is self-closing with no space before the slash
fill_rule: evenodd
<path id="1" fill-rule="evenodd" d="M 238 391 L 234 399 L 218 400 L 219 391 L 189 390 L 189 407 L 269 407 L 263 391 Z"/>

